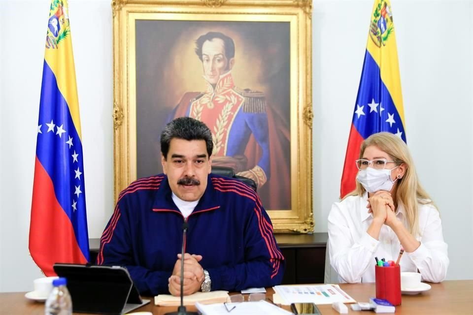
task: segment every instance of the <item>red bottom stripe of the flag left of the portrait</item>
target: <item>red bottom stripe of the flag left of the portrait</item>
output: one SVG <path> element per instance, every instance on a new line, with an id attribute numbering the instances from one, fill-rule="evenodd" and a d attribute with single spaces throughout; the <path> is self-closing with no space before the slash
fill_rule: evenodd
<path id="1" fill-rule="evenodd" d="M 87 263 L 69 217 L 56 199 L 53 182 L 36 158 L 30 222 L 30 253 L 46 276 L 56 262 Z"/>

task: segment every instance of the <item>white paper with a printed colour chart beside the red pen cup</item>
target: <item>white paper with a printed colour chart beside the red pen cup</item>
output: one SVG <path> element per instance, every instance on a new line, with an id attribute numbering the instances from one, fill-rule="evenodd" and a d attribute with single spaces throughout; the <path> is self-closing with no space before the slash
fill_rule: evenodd
<path id="1" fill-rule="evenodd" d="M 332 304 L 334 302 L 356 302 L 337 284 L 276 285 L 274 291 L 279 295 L 281 303 L 284 305 L 291 303 Z"/>

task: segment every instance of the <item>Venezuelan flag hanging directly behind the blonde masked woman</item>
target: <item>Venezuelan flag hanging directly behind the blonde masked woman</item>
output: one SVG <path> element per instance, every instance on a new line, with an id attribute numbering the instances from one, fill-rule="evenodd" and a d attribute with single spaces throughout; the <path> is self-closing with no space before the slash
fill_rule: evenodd
<path id="1" fill-rule="evenodd" d="M 365 61 L 348 138 L 340 196 L 355 189 L 363 140 L 381 131 L 405 139 L 405 120 L 399 76 L 396 32 L 389 0 L 375 0 L 370 21 Z"/>

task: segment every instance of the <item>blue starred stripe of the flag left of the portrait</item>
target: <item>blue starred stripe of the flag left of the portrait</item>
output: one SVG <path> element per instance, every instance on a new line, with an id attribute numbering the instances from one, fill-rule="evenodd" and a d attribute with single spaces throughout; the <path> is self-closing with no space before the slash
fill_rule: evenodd
<path id="1" fill-rule="evenodd" d="M 55 125 L 54 131 L 48 132 L 46 124 L 50 124 L 51 120 Z M 42 125 L 42 133 L 38 132 L 37 135 L 36 156 L 53 182 L 56 199 L 72 222 L 81 251 L 85 257 L 89 257 L 82 143 L 72 122 L 68 104 L 59 91 L 56 77 L 46 61 L 43 64 L 39 125 Z M 60 137 L 57 132 L 61 125 L 66 132 Z M 66 143 L 69 136 L 72 138 L 70 149 Z M 77 161 L 73 161 L 74 152 L 77 154 Z M 82 173 L 80 179 L 76 178 L 77 169 Z M 76 186 L 82 191 L 79 197 L 74 194 Z M 77 202 L 75 211 L 72 209 L 74 201 Z"/>

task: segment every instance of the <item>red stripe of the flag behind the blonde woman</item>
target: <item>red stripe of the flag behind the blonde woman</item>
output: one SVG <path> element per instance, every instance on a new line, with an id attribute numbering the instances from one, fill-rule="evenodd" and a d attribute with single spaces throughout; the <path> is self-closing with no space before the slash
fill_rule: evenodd
<path id="1" fill-rule="evenodd" d="M 341 175 L 340 198 L 353 191 L 356 187 L 355 178 L 358 173 L 355 160 L 360 156 L 360 147 L 364 139 L 351 124 L 350 137 L 346 147 L 345 164 L 343 165 L 343 174 Z"/>

